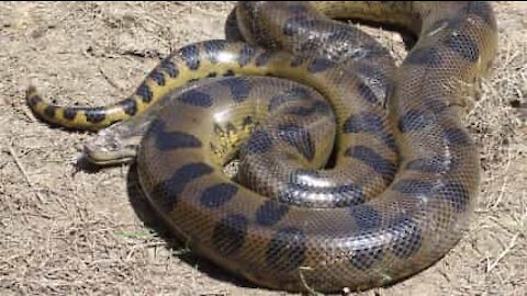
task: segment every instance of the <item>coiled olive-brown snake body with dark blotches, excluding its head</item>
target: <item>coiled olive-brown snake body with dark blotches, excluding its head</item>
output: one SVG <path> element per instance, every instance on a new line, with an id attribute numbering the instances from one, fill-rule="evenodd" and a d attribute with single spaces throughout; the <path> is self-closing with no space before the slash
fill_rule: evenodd
<path id="1" fill-rule="evenodd" d="M 479 191 L 459 106 L 496 52 L 491 5 L 243 2 L 235 16 L 246 43 L 184 46 L 114 105 L 53 105 L 34 88 L 27 103 L 47 122 L 100 129 L 169 96 L 141 140 L 141 185 L 195 253 L 261 286 L 367 289 L 444 257 Z M 394 25 L 416 42 L 393 68 L 370 37 L 329 19 Z M 226 78 L 173 94 L 206 77 Z M 240 146 L 254 190 L 222 173 Z"/>

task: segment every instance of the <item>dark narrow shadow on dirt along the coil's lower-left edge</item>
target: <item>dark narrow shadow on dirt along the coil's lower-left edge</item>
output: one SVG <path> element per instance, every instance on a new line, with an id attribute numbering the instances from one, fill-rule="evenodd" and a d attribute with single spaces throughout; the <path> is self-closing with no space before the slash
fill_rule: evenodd
<path id="1" fill-rule="evenodd" d="M 167 248 L 171 250 L 172 255 L 190 266 L 197 266 L 199 272 L 202 272 L 214 280 L 228 282 L 239 287 L 258 288 L 258 286 L 218 267 L 211 261 L 194 255 L 188 250 L 183 241 L 178 240 L 171 234 L 164 220 L 149 204 L 146 194 L 142 191 L 135 162 L 130 166 L 126 179 L 126 190 L 132 208 L 147 228 L 153 230 L 158 237 L 167 242 Z"/>

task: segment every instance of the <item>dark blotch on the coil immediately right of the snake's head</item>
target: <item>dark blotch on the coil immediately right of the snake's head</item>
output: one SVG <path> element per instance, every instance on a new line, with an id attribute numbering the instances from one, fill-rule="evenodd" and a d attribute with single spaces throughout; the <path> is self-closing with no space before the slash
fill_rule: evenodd
<path id="1" fill-rule="evenodd" d="M 165 123 L 156 119 L 152 123 L 152 130 L 156 130 L 156 148 L 160 151 L 169 151 L 183 148 L 200 148 L 202 143 L 199 138 L 184 132 L 167 132 Z"/>

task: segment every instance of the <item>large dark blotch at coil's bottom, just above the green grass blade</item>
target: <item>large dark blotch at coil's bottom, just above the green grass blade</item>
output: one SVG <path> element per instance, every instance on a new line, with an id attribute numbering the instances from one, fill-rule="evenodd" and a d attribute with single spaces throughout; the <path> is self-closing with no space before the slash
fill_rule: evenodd
<path id="1" fill-rule="evenodd" d="M 277 272 L 296 270 L 305 260 L 305 234 L 299 228 L 278 230 L 267 247 L 267 264 Z"/>

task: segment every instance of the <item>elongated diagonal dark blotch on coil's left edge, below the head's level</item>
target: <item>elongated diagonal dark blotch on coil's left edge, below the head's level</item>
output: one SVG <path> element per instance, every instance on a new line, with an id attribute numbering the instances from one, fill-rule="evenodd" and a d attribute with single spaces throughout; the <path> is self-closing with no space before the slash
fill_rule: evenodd
<path id="1" fill-rule="evenodd" d="M 156 198 L 158 206 L 165 213 L 169 213 L 177 205 L 179 195 L 189 182 L 212 172 L 213 169 L 203 162 L 186 164 L 177 170 L 170 179 L 157 184 L 152 196 Z"/>

